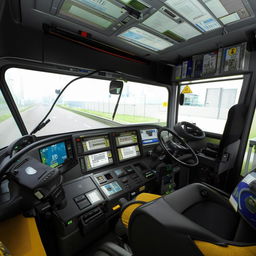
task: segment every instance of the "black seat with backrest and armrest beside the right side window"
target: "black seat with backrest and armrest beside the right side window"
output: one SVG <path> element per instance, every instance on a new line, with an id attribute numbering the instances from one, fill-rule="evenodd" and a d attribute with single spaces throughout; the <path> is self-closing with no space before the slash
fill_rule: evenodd
<path id="1" fill-rule="evenodd" d="M 246 120 L 246 109 L 244 104 L 231 107 L 220 144 L 208 143 L 203 153 L 199 154 L 200 162 L 213 166 L 218 174 L 234 166 Z"/>

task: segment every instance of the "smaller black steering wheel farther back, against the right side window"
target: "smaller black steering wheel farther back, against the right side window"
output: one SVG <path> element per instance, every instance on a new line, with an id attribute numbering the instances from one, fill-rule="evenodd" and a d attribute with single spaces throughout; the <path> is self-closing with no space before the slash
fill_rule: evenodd
<path id="1" fill-rule="evenodd" d="M 189 122 L 179 122 L 173 128 L 180 137 L 186 140 L 202 140 L 205 138 L 204 131 Z"/>

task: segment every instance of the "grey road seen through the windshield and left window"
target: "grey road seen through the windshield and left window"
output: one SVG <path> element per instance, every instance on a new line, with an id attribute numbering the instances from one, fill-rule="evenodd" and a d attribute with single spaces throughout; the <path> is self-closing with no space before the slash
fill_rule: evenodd
<path id="1" fill-rule="evenodd" d="M 37 106 L 21 113 L 29 131 L 35 128 L 48 110 L 49 107 Z M 101 122 L 58 107 L 54 108 L 49 118 L 51 122 L 36 133 L 37 136 L 109 127 Z M 12 118 L 0 123 L 0 148 L 7 146 L 20 136 Z"/>

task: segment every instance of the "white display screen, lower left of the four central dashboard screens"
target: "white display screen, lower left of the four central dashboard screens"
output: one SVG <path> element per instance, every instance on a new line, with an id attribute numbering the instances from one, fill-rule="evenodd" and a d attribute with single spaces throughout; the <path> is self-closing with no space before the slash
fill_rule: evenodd
<path id="1" fill-rule="evenodd" d="M 88 171 L 113 163 L 111 151 L 104 151 L 84 157 Z"/>

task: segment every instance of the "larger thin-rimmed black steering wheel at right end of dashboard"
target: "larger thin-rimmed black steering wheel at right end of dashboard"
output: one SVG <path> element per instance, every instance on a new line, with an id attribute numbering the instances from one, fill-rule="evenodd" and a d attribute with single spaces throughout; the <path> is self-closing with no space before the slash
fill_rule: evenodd
<path id="1" fill-rule="evenodd" d="M 199 160 L 195 151 L 169 128 L 158 131 L 158 139 L 165 153 L 185 167 L 195 167 Z"/>

